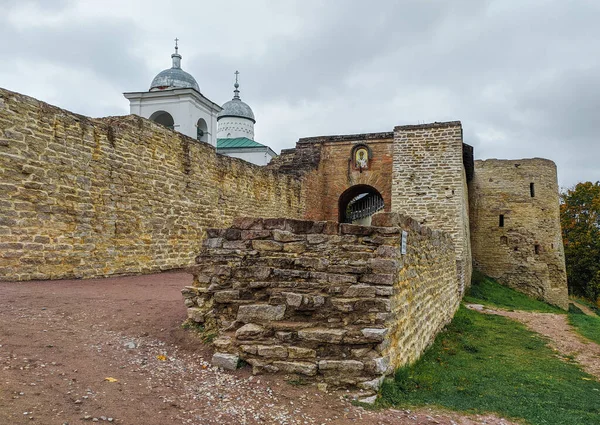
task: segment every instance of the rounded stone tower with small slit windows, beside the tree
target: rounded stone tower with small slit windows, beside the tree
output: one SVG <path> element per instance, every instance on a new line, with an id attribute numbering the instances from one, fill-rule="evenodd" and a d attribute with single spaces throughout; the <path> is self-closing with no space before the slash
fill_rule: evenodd
<path id="1" fill-rule="evenodd" d="M 475 161 L 470 206 L 474 266 L 568 308 L 556 165 L 540 158 Z"/>

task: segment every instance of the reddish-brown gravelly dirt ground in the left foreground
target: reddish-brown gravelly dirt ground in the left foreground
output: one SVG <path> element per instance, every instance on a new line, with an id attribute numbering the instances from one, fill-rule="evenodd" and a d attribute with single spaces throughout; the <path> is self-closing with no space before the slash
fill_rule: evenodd
<path id="1" fill-rule="evenodd" d="M 168 273 L 0 283 L 0 424 L 512 423 L 429 409 L 365 411 L 284 377 L 220 371 L 180 327 L 180 289 L 190 281 Z"/>

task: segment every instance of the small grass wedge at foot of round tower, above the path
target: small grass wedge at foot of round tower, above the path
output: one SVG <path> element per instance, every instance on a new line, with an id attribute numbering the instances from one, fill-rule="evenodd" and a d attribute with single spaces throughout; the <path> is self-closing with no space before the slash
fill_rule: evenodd
<path id="1" fill-rule="evenodd" d="M 538 311 L 542 313 L 565 313 L 558 307 L 528 297 L 520 292 L 500 285 L 494 279 L 474 270 L 471 288 L 464 301 L 483 304 L 506 310 Z"/>

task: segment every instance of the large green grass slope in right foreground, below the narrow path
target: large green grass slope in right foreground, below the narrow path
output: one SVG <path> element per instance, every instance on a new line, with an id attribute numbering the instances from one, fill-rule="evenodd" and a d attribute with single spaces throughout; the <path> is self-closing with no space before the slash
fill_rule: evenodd
<path id="1" fill-rule="evenodd" d="M 514 306 L 520 308 L 520 306 Z M 600 420 L 600 383 L 510 319 L 461 307 L 433 346 L 399 369 L 380 405 L 496 412 L 532 425 Z"/>

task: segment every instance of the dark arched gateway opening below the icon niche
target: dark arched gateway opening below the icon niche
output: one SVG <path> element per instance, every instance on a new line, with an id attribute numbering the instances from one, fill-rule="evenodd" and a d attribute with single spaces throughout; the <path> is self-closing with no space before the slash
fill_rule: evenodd
<path id="1" fill-rule="evenodd" d="M 339 222 L 370 226 L 373 214 L 383 210 L 384 206 L 381 193 L 373 186 L 352 186 L 341 194 L 338 201 Z"/>

